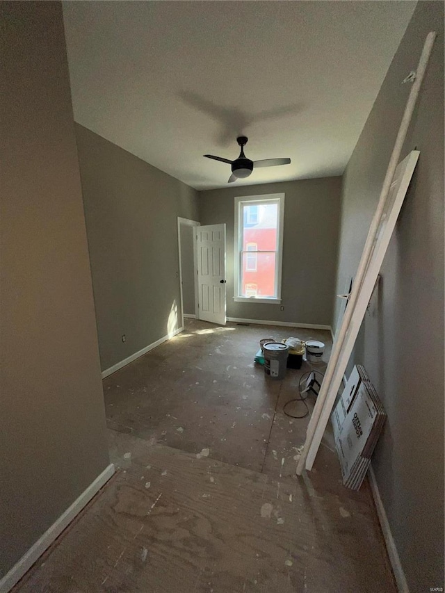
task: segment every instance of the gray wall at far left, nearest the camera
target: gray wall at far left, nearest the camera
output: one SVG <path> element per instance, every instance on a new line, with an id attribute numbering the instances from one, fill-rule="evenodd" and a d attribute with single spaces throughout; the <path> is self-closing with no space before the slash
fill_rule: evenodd
<path id="1" fill-rule="evenodd" d="M 1 2 L 0 578 L 108 465 L 58 2 Z"/>

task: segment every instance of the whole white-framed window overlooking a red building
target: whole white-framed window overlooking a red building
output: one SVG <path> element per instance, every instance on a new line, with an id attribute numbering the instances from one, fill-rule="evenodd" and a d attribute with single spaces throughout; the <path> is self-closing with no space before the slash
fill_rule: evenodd
<path id="1" fill-rule="evenodd" d="M 281 302 L 284 194 L 235 198 L 236 301 Z"/>

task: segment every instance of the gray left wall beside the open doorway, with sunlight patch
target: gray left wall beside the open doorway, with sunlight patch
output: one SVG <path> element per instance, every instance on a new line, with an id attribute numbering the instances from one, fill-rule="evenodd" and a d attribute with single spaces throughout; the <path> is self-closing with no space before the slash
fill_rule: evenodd
<path id="1" fill-rule="evenodd" d="M 105 370 L 179 327 L 177 217 L 198 220 L 197 197 L 79 124 L 76 138 Z"/>

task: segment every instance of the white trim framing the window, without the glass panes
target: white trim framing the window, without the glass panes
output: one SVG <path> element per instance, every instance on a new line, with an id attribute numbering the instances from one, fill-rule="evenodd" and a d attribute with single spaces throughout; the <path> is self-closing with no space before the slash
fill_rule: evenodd
<path id="1" fill-rule="evenodd" d="M 280 216 L 278 219 L 278 250 L 277 250 L 277 266 L 275 268 L 275 285 L 277 286 L 277 296 L 275 298 L 257 298 L 244 297 L 239 295 L 240 283 L 240 239 L 241 229 L 243 228 L 240 217 L 241 204 L 245 202 L 273 202 L 280 201 Z M 241 224 L 240 224 L 241 222 Z M 282 282 L 282 265 L 283 265 L 283 235 L 284 235 L 284 193 L 270 193 L 266 195 L 243 195 L 235 197 L 235 225 L 234 225 L 234 302 L 256 302 L 269 304 L 281 303 L 281 282 Z"/>

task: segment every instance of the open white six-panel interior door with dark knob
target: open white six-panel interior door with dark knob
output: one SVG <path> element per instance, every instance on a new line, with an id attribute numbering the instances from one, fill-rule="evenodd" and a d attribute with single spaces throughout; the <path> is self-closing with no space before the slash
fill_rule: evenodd
<path id="1" fill-rule="evenodd" d="M 225 225 L 196 229 L 199 318 L 225 324 Z"/>

